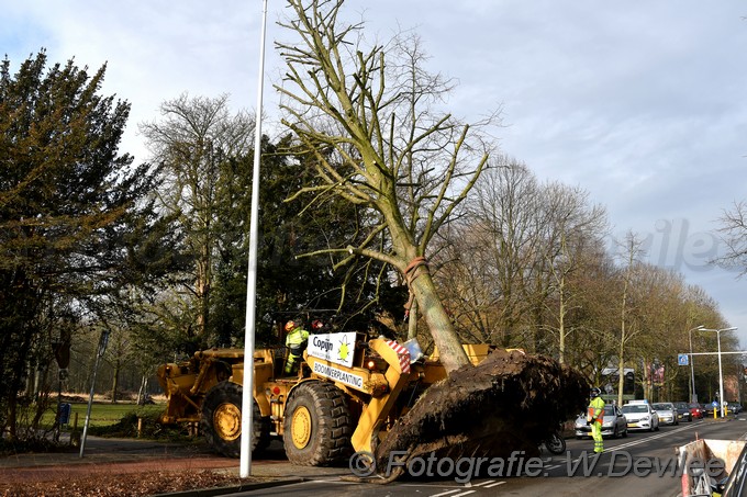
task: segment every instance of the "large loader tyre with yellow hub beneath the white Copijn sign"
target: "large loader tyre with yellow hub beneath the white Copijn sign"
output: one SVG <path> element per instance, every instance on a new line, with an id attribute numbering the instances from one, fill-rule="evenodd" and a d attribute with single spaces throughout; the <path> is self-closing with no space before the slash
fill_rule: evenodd
<path id="1" fill-rule="evenodd" d="M 288 460 L 302 466 L 328 466 L 349 456 L 353 422 L 347 399 L 332 383 L 305 382 L 288 400 L 282 443 Z"/>

